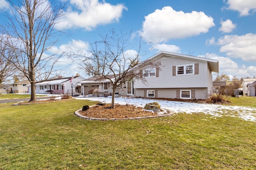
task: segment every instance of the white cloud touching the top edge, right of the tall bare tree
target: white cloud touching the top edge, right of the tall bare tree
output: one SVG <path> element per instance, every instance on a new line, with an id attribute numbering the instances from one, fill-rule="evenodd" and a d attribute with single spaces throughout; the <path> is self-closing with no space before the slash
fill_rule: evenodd
<path id="1" fill-rule="evenodd" d="M 70 0 L 70 5 L 73 8 L 65 12 L 66 15 L 57 25 L 59 29 L 78 27 L 91 30 L 98 25 L 119 21 L 122 11 L 127 10 L 123 4 L 111 5 L 98 0 Z"/>

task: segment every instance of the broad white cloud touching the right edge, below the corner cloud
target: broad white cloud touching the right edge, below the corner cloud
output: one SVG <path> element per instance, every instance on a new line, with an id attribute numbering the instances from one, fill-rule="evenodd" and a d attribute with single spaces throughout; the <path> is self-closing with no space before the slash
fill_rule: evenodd
<path id="1" fill-rule="evenodd" d="M 218 39 L 220 52 L 233 58 L 241 58 L 243 61 L 256 61 L 256 34 L 225 35 Z"/>

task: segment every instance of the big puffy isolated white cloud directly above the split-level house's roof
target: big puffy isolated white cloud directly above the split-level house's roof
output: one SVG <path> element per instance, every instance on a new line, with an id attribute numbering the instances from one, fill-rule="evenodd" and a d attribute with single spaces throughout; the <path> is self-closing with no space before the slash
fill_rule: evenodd
<path id="1" fill-rule="evenodd" d="M 213 18 L 204 12 L 184 13 L 165 6 L 145 16 L 142 32 L 148 41 L 162 42 L 206 33 L 213 26 Z"/>

